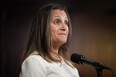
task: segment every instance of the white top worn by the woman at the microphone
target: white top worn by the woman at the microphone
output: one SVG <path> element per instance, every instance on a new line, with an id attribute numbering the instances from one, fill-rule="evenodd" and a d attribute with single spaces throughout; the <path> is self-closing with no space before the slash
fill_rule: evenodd
<path id="1" fill-rule="evenodd" d="M 50 63 L 39 55 L 31 55 L 22 63 L 19 77 L 79 77 L 79 73 L 64 61 Z"/>

